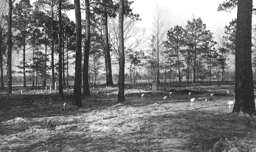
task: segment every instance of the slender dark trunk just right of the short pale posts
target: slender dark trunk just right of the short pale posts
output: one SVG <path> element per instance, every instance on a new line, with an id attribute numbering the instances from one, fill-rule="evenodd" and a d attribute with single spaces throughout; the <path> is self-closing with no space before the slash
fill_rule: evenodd
<path id="1" fill-rule="evenodd" d="M 59 95 L 63 95 L 63 80 L 62 80 L 62 25 L 61 25 L 61 1 L 59 0 L 58 3 L 58 38 L 59 38 L 59 50 L 58 50 L 58 58 L 59 58 L 59 64 L 58 64 L 58 73 L 59 73 Z"/>

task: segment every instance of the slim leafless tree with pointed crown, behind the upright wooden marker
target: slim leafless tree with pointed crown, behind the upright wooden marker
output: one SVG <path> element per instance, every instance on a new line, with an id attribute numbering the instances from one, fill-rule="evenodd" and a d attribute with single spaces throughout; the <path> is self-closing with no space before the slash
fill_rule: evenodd
<path id="1" fill-rule="evenodd" d="M 154 12 L 154 20 L 153 20 L 153 27 L 152 27 L 152 34 L 155 37 L 154 40 L 154 45 L 156 47 L 156 51 L 157 51 L 157 83 L 160 84 L 160 80 L 159 80 L 159 55 L 160 52 L 163 49 L 163 39 L 164 39 L 164 34 L 165 34 L 165 30 L 163 29 L 163 18 L 162 18 L 162 12 L 161 10 L 158 8 L 155 10 Z"/>

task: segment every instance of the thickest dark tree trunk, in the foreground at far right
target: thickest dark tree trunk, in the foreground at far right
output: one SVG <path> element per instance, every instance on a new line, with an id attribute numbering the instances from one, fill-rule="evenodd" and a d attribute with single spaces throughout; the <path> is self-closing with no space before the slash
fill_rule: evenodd
<path id="1" fill-rule="evenodd" d="M 249 114 L 255 117 L 253 92 L 253 71 L 251 60 L 253 0 L 238 0 L 236 27 L 236 73 L 234 113 Z"/>

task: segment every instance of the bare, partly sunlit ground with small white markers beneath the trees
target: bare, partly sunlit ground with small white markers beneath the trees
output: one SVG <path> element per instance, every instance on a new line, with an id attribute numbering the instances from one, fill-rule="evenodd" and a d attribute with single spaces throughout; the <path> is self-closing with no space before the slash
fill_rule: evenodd
<path id="1" fill-rule="evenodd" d="M 16 89 L 0 94 L 0 152 L 256 152 L 256 121 L 230 115 L 233 89 L 161 84 L 153 94 L 127 85 L 118 104 L 117 87 L 95 86 L 82 108 L 70 87 L 64 97 Z"/>

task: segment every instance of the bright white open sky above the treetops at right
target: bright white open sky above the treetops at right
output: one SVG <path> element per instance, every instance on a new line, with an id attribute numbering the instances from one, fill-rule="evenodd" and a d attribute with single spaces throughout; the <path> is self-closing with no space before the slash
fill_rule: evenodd
<path id="1" fill-rule="evenodd" d="M 166 29 L 175 25 L 185 27 L 187 20 L 192 15 L 201 17 L 207 29 L 215 32 L 216 29 L 224 29 L 232 18 L 236 18 L 236 12 L 217 11 L 218 5 L 224 0 L 134 0 L 134 11 L 141 14 L 141 25 L 151 28 L 154 11 L 158 8 L 162 11 Z"/>

